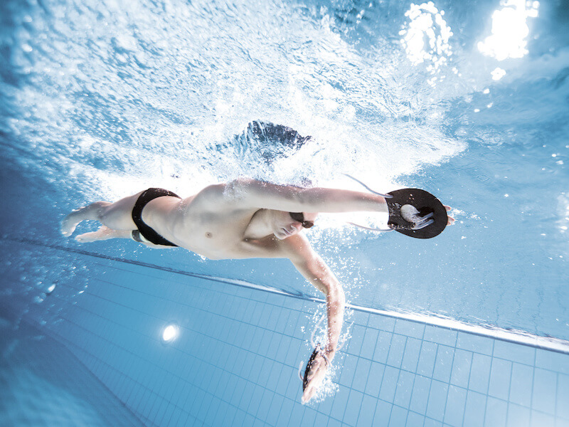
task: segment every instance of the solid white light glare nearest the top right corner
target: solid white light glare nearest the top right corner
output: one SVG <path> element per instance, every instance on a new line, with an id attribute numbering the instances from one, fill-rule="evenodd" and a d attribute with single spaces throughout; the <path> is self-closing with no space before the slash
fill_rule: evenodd
<path id="1" fill-rule="evenodd" d="M 497 60 L 521 58 L 528 53 L 526 37 L 529 28 L 527 18 L 538 16 L 538 1 L 527 5 L 524 0 L 503 0 L 502 9 L 492 14 L 492 35 L 479 41 L 478 50 Z M 494 79 L 497 80 L 497 79 Z"/>

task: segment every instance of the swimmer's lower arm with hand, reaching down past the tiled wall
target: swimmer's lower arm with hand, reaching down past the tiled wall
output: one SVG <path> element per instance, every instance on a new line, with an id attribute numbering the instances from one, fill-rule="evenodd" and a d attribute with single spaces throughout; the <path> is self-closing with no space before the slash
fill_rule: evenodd
<path id="1" fill-rule="evenodd" d="M 316 394 L 317 389 L 324 380 L 328 362 L 331 362 L 336 355 L 338 340 L 344 323 L 346 297 L 338 279 L 328 265 L 324 263 L 324 260 L 314 252 L 304 234 L 286 238 L 282 241 L 282 245 L 285 246 L 287 257 L 292 261 L 299 273 L 326 296 L 328 339 L 326 346 L 322 350 L 327 360 L 321 354 L 317 354 L 316 359 L 312 363 L 312 369 L 310 369 L 308 374 L 308 384 L 302 395 L 302 401 L 307 402 Z"/>

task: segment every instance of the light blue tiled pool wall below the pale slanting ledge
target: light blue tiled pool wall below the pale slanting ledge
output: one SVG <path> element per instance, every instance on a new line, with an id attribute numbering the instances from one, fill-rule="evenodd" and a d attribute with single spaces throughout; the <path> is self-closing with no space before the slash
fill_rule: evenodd
<path id="1" fill-rule="evenodd" d="M 568 355 L 358 311 L 337 391 L 302 405 L 321 304 L 97 263 L 50 329 L 147 426 L 569 426 Z"/>

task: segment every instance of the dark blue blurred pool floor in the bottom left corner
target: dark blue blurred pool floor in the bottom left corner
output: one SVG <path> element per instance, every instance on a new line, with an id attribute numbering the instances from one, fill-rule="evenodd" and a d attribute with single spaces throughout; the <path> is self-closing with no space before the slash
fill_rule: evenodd
<path id="1" fill-rule="evenodd" d="M 0 326 L 0 426 L 144 426 L 55 339 Z"/>

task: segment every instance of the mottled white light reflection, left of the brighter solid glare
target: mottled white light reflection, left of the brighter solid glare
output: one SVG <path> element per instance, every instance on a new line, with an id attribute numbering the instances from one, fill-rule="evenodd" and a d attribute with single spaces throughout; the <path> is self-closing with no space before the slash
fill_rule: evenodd
<path id="1" fill-rule="evenodd" d="M 452 55 L 449 46 L 452 31 L 442 19 L 444 14 L 445 11 L 439 12 L 432 1 L 420 5 L 412 3 L 405 12 L 410 22 L 399 31 L 407 58 L 413 65 L 427 61 L 427 70 L 431 74 L 435 74 Z"/>

